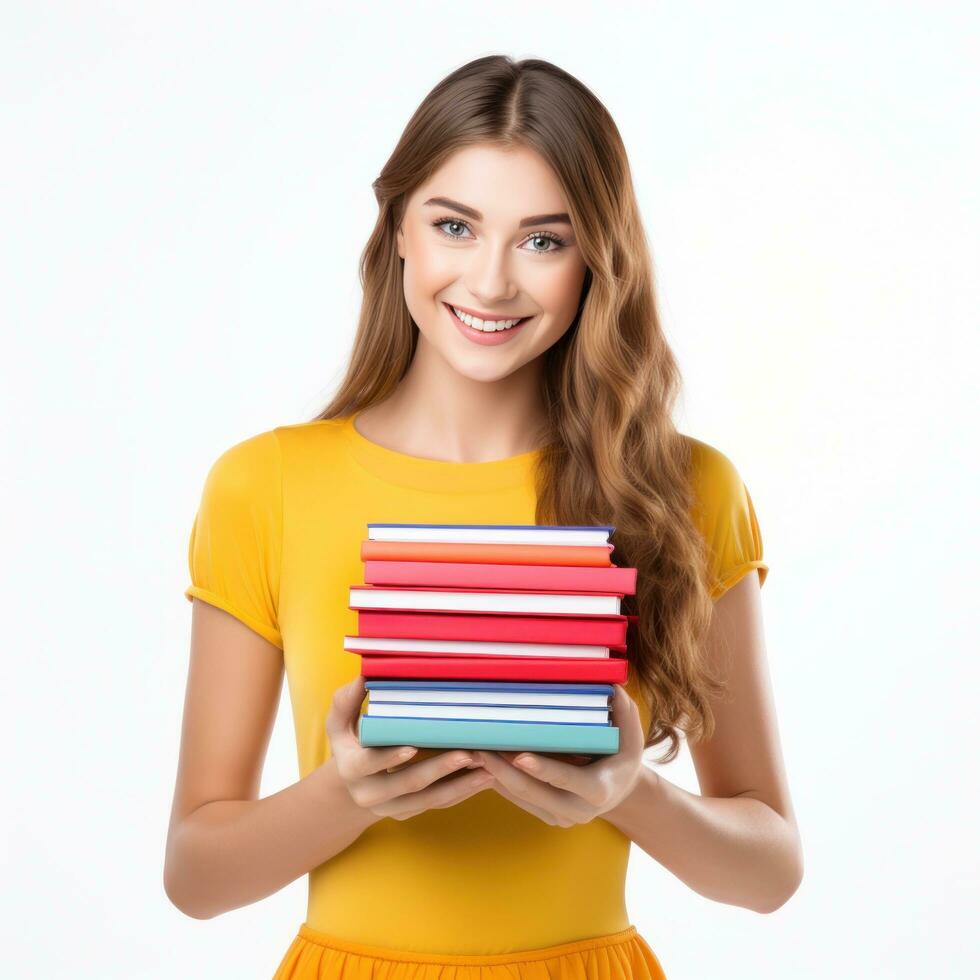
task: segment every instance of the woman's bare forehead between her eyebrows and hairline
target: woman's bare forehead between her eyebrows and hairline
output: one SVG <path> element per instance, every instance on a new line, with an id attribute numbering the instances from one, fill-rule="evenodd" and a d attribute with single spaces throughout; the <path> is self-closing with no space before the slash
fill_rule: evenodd
<path id="1" fill-rule="evenodd" d="M 420 208 L 432 197 L 475 208 L 487 222 L 516 222 L 529 214 L 568 210 L 554 171 L 536 150 L 525 146 L 480 144 L 457 150 L 415 189 L 409 206 Z"/>

